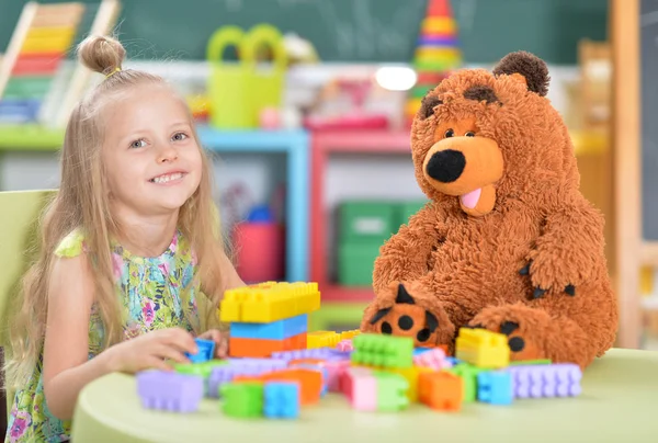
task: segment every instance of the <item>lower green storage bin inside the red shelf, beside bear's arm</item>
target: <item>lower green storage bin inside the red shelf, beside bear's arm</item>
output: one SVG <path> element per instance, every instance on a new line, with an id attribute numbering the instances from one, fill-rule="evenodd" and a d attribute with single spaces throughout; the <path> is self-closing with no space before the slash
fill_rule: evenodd
<path id="1" fill-rule="evenodd" d="M 338 246 L 338 282 L 343 286 L 372 286 L 375 259 L 382 241 L 350 241 Z"/>

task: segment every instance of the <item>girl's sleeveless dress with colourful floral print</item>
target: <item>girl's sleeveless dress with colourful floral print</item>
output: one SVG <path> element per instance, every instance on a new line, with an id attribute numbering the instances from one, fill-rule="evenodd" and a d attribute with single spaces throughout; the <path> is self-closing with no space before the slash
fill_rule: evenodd
<path id="1" fill-rule="evenodd" d="M 76 257 L 84 249 L 79 231 L 67 236 L 55 253 Z M 169 248 L 156 258 L 131 254 L 112 243 L 117 296 L 125 310 L 125 339 L 161 328 L 198 330 L 195 279 L 196 258 L 184 236 L 177 231 Z M 92 307 L 89 322 L 89 359 L 102 350 L 104 328 Z M 43 353 L 25 388 L 16 391 L 4 442 L 63 442 L 70 439 L 70 421 L 55 418 L 46 405 L 43 385 Z"/>

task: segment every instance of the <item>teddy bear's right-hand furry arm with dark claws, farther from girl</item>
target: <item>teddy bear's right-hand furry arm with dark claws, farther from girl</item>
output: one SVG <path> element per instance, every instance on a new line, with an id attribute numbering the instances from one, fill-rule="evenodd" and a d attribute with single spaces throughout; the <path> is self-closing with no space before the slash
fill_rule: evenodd
<path id="1" fill-rule="evenodd" d="M 549 213 L 527 257 L 535 298 L 546 292 L 574 296 L 604 263 L 603 216 L 588 202 Z M 522 272 L 523 273 L 523 272 Z"/>

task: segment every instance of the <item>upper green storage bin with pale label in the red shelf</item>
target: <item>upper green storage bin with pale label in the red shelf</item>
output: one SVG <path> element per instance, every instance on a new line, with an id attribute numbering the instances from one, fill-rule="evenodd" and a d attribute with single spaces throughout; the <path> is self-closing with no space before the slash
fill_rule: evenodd
<path id="1" fill-rule="evenodd" d="M 340 205 L 339 241 L 378 241 L 397 231 L 397 207 L 392 202 L 351 201 Z"/>

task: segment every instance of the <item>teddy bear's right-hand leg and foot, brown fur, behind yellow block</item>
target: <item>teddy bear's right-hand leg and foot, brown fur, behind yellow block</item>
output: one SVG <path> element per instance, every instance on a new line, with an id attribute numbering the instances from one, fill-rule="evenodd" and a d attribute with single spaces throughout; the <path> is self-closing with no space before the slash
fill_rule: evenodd
<path id="1" fill-rule="evenodd" d="M 487 307 L 469 325 L 508 336 L 512 360 L 551 359 L 585 368 L 612 345 L 617 325 L 612 291 L 597 286 L 582 286 L 575 297 L 552 294 Z"/>

